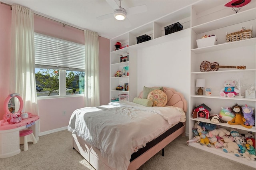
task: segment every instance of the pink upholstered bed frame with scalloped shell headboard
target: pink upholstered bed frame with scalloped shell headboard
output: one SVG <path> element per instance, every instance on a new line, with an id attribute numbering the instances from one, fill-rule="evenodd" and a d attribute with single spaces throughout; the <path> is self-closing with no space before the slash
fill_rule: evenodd
<path id="1" fill-rule="evenodd" d="M 163 91 L 166 93 L 168 97 L 168 102 L 166 105 L 175 106 L 182 108 L 185 112 L 187 111 L 187 101 L 185 100 L 182 93 L 175 91 L 172 88 L 163 87 Z M 139 97 L 142 98 L 143 92 L 140 93 Z M 178 136 L 185 136 L 185 124 L 180 127 L 178 130 L 164 138 L 158 144 L 138 156 L 136 159 L 132 160 L 128 166 L 128 170 L 136 170 L 146 161 L 148 161 L 152 156 L 162 150 L 167 144 L 172 142 Z M 73 136 L 73 148 L 76 149 L 88 163 L 90 163 L 96 170 L 113 170 L 110 166 L 108 166 L 108 160 L 101 156 L 100 150 L 94 146 L 91 146 L 87 142 L 85 142 L 82 138 L 77 136 L 76 134 L 72 134 Z"/>

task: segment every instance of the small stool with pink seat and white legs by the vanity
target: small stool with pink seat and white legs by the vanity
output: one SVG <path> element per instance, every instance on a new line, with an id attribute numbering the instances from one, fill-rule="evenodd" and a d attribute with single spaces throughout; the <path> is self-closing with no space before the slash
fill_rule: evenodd
<path id="1" fill-rule="evenodd" d="M 20 144 L 24 144 L 24 151 L 28 150 L 28 142 L 33 142 L 33 144 L 37 143 L 33 130 L 20 130 Z"/>

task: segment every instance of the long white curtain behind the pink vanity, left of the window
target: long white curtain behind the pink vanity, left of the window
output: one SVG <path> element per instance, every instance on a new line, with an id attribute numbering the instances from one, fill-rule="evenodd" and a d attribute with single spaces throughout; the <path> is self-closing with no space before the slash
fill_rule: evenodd
<path id="1" fill-rule="evenodd" d="M 34 12 L 19 5 L 12 6 L 10 93 L 19 93 L 24 112 L 39 115 L 36 97 L 34 57 Z"/>

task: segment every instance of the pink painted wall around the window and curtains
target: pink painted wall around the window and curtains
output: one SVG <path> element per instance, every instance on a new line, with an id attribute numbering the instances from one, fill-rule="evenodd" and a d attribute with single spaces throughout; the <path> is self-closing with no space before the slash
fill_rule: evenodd
<path id="1" fill-rule="evenodd" d="M 1 4 L 0 6 L 0 118 L 2 119 L 2 103 L 9 92 L 9 71 L 10 67 L 10 32 L 11 32 L 11 10 L 9 6 Z M 62 24 L 34 16 L 34 30 L 35 32 L 62 38 L 77 43 L 84 44 L 84 32 L 82 30 L 72 28 L 70 26 L 63 27 Z M 99 37 L 100 46 L 100 104 L 106 104 L 109 101 L 109 49 L 110 41 L 106 38 Z M 3 50 L 4 49 L 4 50 Z M 75 109 L 84 107 L 83 97 L 66 97 L 56 99 L 39 99 L 38 108 L 40 116 L 40 132 L 46 132 L 57 128 L 68 126 L 70 115 Z M 66 115 L 62 113 L 66 111 Z"/>

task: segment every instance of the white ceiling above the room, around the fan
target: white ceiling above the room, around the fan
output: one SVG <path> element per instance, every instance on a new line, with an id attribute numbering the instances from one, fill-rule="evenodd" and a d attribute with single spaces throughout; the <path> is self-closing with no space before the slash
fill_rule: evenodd
<path id="1" fill-rule="evenodd" d="M 30 8 L 35 14 L 51 18 L 80 29 L 98 32 L 98 35 L 112 39 L 143 24 L 170 14 L 198 0 L 122 0 L 122 8 L 146 5 L 147 11 L 128 15 L 128 21 L 118 21 L 113 17 L 98 20 L 97 17 L 113 13 L 111 3 L 119 0 L 1 0 L 6 4 L 19 4 Z M 108 1 L 108 2 L 107 2 Z M 114 4 L 114 5 L 116 5 Z M 112 5 L 113 6 L 113 5 Z M 127 26 L 127 23 L 130 26 Z"/>

